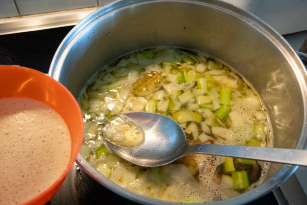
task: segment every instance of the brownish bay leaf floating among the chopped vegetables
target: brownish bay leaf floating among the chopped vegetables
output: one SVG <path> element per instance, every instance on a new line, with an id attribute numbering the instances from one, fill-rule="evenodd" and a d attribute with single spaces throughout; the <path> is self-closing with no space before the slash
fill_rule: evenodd
<path id="1" fill-rule="evenodd" d="M 159 87 L 161 79 L 162 75 L 159 72 L 151 71 L 145 73 L 132 85 L 132 94 L 140 96 L 150 94 Z"/>

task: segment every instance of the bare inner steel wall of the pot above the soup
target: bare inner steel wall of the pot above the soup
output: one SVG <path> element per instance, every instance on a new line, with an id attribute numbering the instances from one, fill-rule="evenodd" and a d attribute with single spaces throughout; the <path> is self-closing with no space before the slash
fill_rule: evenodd
<path id="1" fill-rule="evenodd" d="M 54 75 L 75 97 L 101 66 L 132 50 L 154 46 L 196 49 L 236 68 L 254 85 L 271 117 L 275 147 L 295 148 L 299 140 L 303 100 L 292 65 L 274 42 L 242 16 L 198 3 L 136 4 L 100 14 L 68 40 L 57 65 L 62 69 Z M 280 168 L 273 164 L 268 176 Z"/>

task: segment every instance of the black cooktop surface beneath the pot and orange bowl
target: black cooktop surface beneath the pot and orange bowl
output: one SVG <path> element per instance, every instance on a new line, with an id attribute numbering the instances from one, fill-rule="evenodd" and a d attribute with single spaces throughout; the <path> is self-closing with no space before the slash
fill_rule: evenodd
<path id="1" fill-rule="evenodd" d="M 15 64 L 48 73 L 54 53 L 73 27 L 0 36 L 0 64 Z M 137 204 L 101 186 L 74 165 L 50 205 Z M 278 204 L 273 193 L 248 203 Z"/>

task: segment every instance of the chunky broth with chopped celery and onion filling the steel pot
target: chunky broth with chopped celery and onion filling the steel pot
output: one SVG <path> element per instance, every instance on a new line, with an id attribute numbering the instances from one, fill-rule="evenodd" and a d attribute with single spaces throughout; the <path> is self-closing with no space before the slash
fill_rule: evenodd
<path id="1" fill-rule="evenodd" d="M 85 123 L 81 154 L 136 193 L 176 202 L 222 200 L 259 185 L 269 167 L 267 162 L 195 154 L 145 168 L 106 146 L 107 127 L 118 115 L 152 112 L 180 123 L 190 144 L 271 147 L 271 125 L 255 90 L 234 69 L 204 53 L 170 48 L 132 52 L 104 66 L 79 102 Z"/>

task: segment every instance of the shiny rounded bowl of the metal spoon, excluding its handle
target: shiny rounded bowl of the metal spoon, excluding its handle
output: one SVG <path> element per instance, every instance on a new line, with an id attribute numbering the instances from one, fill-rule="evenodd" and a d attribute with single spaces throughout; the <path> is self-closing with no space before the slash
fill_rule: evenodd
<path id="1" fill-rule="evenodd" d="M 111 150 L 133 164 L 161 166 L 185 154 L 188 142 L 180 125 L 172 118 L 154 113 L 126 113 L 144 132 L 144 142 L 133 148 L 121 147 L 107 140 Z M 184 136 L 183 136 L 184 135 Z"/>

